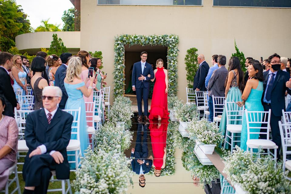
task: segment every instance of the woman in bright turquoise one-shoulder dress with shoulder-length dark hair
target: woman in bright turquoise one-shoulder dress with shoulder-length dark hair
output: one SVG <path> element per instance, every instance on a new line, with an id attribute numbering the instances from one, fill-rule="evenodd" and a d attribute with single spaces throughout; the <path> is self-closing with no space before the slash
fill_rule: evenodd
<path id="1" fill-rule="evenodd" d="M 263 95 L 263 67 L 257 61 L 251 61 L 249 65 L 249 79 L 246 82 L 246 87 L 243 91 L 242 99 L 243 102 L 238 102 L 240 106 L 245 105 L 246 110 L 248 111 L 264 111 L 261 99 Z M 260 116 L 259 116 L 260 118 Z M 257 121 L 256 118 L 253 118 L 254 121 Z M 260 127 L 261 124 L 252 123 L 251 127 Z M 251 132 L 260 132 L 260 129 L 251 129 Z M 246 115 L 243 115 L 243 127 L 241 133 L 241 142 L 240 148 L 246 150 L 246 141 L 248 140 L 247 126 L 246 126 Z M 259 139 L 259 134 L 250 134 L 249 139 Z M 256 152 L 256 150 L 253 150 Z"/>

